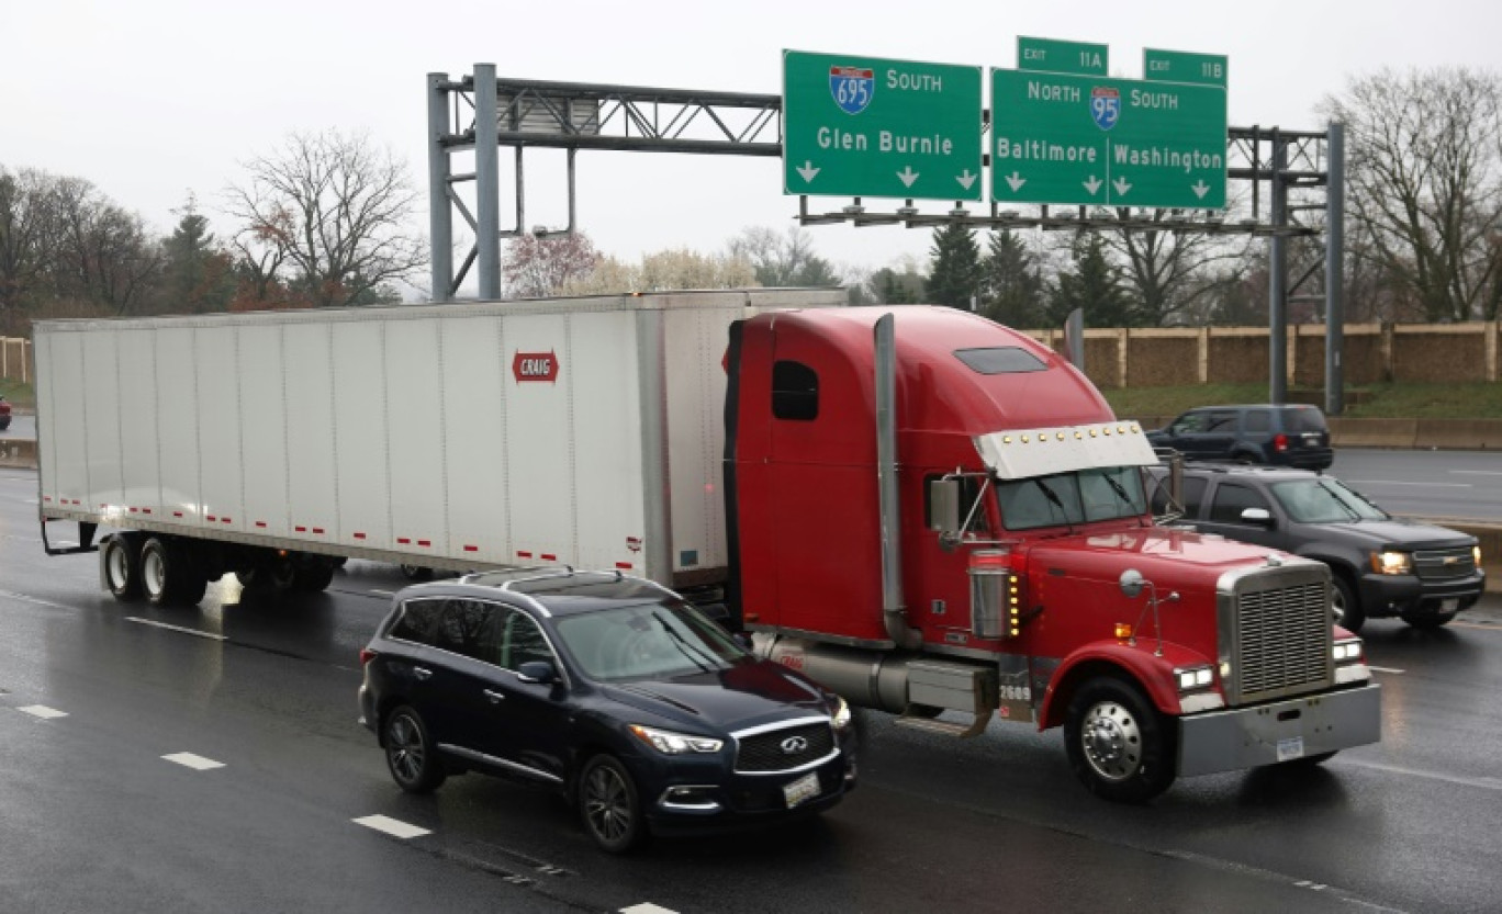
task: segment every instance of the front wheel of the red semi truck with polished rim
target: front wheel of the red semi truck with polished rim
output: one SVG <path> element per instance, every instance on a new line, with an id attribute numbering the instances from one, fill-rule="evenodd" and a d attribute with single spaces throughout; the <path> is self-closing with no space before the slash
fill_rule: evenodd
<path id="1" fill-rule="evenodd" d="M 1069 765 L 1105 800 L 1145 803 L 1169 789 L 1176 774 L 1173 740 L 1172 722 L 1123 680 L 1093 678 L 1069 701 Z"/>

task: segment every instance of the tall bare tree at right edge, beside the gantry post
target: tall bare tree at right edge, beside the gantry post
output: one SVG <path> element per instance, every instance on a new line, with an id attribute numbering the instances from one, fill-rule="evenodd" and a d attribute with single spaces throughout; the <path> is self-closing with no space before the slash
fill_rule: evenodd
<path id="1" fill-rule="evenodd" d="M 1347 129 L 1358 248 L 1409 291 L 1422 320 L 1497 315 L 1502 80 L 1472 69 L 1353 78 L 1323 114 Z"/>

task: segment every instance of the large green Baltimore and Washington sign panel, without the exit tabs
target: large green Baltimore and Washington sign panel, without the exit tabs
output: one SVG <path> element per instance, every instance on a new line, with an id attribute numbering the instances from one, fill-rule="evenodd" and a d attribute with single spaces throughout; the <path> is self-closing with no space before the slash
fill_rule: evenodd
<path id="1" fill-rule="evenodd" d="M 991 71 L 991 200 L 1224 209 L 1226 89 Z"/>

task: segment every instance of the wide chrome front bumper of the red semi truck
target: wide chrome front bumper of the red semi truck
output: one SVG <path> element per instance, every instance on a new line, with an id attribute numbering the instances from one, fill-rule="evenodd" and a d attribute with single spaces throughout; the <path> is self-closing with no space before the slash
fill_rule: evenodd
<path id="1" fill-rule="evenodd" d="M 1382 738 L 1377 684 L 1179 717 L 1179 776 L 1239 771 Z"/>

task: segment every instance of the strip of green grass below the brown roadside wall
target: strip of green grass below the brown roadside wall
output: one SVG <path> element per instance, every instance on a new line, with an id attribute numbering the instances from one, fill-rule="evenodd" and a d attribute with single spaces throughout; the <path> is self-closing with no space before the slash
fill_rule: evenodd
<path id="1" fill-rule="evenodd" d="M 1102 390 L 1117 416 L 1178 416 L 1194 407 L 1268 402 L 1268 386 L 1196 384 Z M 1290 390 L 1289 399 L 1325 407 L 1323 390 Z M 1347 419 L 1502 419 L 1502 384 L 1370 384 L 1346 390 Z"/>

